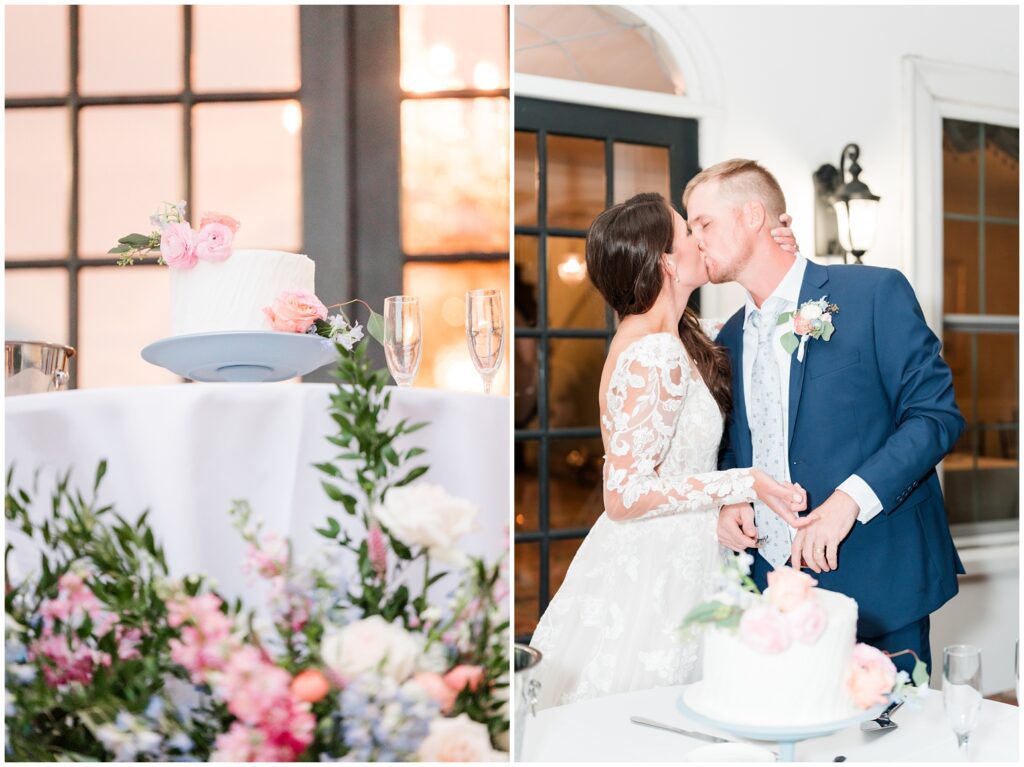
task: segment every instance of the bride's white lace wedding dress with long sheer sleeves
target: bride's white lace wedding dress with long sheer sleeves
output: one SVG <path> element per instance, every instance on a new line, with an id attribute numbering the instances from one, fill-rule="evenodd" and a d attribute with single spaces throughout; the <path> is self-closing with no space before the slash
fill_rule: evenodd
<path id="1" fill-rule="evenodd" d="M 606 393 L 608 509 L 534 633 L 539 707 L 696 681 L 686 613 L 710 596 L 719 509 L 754 500 L 750 469 L 716 471 L 723 418 L 680 340 L 626 347 Z M 641 512 L 640 509 L 645 509 Z"/>

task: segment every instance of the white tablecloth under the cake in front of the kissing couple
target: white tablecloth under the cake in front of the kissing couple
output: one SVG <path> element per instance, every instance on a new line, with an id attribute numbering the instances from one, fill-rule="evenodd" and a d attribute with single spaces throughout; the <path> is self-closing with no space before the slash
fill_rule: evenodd
<path id="1" fill-rule="evenodd" d="M 672 732 L 641 727 L 631 716 L 737 740 L 727 732 L 688 720 L 676 709 L 685 689 L 660 687 L 559 706 L 527 719 L 524 761 L 531 762 L 681 762 L 708 743 Z M 956 762 L 956 737 L 946 724 L 942 693 L 930 690 L 918 709 L 904 706 L 893 717 L 899 728 L 864 733 L 851 727 L 827 737 L 797 743 L 797 761 Z M 985 700 L 971 737 L 976 762 L 1017 762 L 1020 716 L 1016 706 Z M 765 743 L 758 743 L 765 745 Z M 769 747 L 777 749 L 773 745 Z"/>

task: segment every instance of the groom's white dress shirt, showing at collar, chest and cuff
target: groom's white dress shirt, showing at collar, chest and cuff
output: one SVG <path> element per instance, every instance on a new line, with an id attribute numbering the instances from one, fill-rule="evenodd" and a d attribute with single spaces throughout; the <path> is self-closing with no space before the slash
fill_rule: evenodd
<path id="1" fill-rule="evenodd" d="M 785 272 L 785 276 L 782 278 L 782 282 L 776 286 L 775 290 L 772 291 L 772 296 L 781 299 L 785 306 L 782 311 L 795 311 L 797 309 L 797 304 L 800 301 L 800 288 L 804 283 L 804 271 L 807 269 L 807 259 L 801 255 L 797 255 L 793 262 L 793 266 L 790 270 Z M 754 298 L 750 293 L 746 294 L 746 307 L 745 314 L 743 316 L 743 391 L 749 392 L 751 390 L 751 378 L 754 371 L 754 355 L 758 351 L 758 329 L 754 327 L 751 322 L 751 312 L 755 309 L 760 308 L 755 302 Z M 790 366 L 792 364 L 793 354 L 787 353 L 782 347 L 781 338 L 786 333 L 785 326 L 778 326 L 775 329 L 775 339 L 772 343 L 772 348 L 775 350 L 775 361 L 778 364 L 778 381 L 782 388 L 781 398 L 782 398 L 782 444 L 785 448 L 785 476 L 775 477 L 776 479 L 784 479 L 785 481 L 792 481 L 790 478 Z M 743 397 L 744 402 L 750 402 L 750 397 Z M 750 421 L 750 411 L 746 413 L 748 421 Z M 846 495 L 854 500 L 860 511 L 857 514 L 857 519 L 860 522 L 868 522 L 882 511 L 882 502 L 879 501 L 879 497 L 871 489 L 870 485 L 867 484 L 863 479 L 861 479 L 856 474 L 851 474 L 842 484 L 840 484 L 837 489 L 843 491 Z M 824 499 L 822 499 L 823 501 Z M 791 540 L 797 535 L 795 528 L 790 527 L 790 538 Z"/>

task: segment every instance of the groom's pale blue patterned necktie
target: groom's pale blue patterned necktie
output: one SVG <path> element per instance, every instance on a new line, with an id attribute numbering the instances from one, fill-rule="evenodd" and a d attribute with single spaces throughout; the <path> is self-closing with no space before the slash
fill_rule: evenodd
<path id="1" fill-rule="evenodd" d="M 772 344 L 777 343 L 775 326 L 784 306 L 781 298 L 773 296 L 761 309 L 751 312 L 751 322 L 758 329 L 758 349 L 754 355 L 748 406 L 754 466 L 779 481 L 785 479 L 785 444 L 781 384 Z M 754 502 L 754 523 L 762 540 L 761 556 L 772 567 L 781 567 L 790 558 L 790 525 L 760 501 Z"/>

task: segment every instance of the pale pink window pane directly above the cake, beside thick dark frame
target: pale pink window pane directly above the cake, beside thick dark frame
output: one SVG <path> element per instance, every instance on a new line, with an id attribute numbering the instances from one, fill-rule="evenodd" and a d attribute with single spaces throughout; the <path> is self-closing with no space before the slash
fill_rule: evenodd
<path id="1" fill-rule="evenodd" d="M 194 213 L 242 222 L 236 245 L 302 246 L 302 144 L 297 101 L 199 104 L 195 111 Z M 330 303 L 330 302 L 329 302 Z"/>

